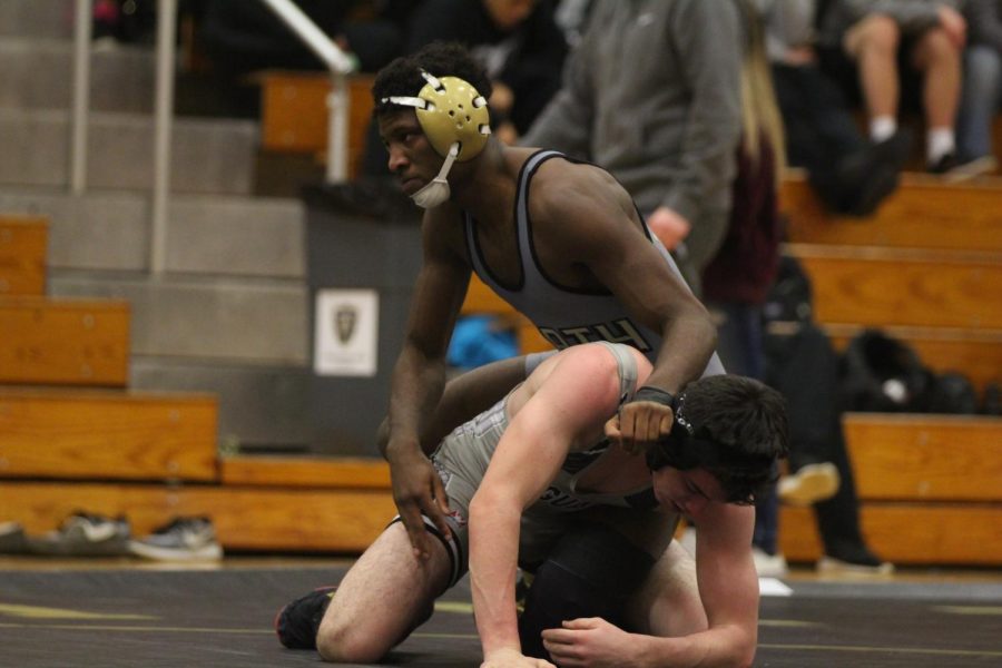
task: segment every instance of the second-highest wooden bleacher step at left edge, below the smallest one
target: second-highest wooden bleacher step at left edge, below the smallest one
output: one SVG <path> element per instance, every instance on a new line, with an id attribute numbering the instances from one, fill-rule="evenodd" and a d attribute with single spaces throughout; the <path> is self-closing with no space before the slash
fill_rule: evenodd
<path id="1" fill-rule="evenodd" d="M 125 386 L 127 302 L 0 297 L 0 383 Z"/>

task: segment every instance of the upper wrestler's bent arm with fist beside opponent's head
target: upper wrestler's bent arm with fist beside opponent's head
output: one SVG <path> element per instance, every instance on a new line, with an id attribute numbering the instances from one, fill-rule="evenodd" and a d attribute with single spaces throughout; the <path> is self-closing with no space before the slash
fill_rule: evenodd
<path id="1" fill-rule="evenodd" d="M 558 165 L 554 165 L 559 166 Z M 576 258 L 647 327 L 661 333 L 661 347 L 645 385 L 677 394 L 703 375 L 717 342 L 706 308 L 631 219 L 632 202 L 608 174 L 579 165 L 570 169 L 544 164 L 530 207 L 537 228 L 559 235 L 559 246 Z M 640 412 L 645 409 L 646 412 Z M 671 429 L 671 411 L 650 402 L 623 406 L 630 422 L 621 425 L 623 445 L 654 441 Z"/>

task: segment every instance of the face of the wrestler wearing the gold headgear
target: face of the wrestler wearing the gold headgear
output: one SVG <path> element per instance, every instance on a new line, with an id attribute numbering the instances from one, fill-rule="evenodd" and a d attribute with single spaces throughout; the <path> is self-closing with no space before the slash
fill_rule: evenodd
<path id="1" fill-rule="evenodd" d="M 380 137 L 390 153 L 387 167 L 400 180 L 405 195 L 413 195 L 438 175 L 442 157 L 435 153 L 413 109 L 390 111 L 379 117 Z"/>

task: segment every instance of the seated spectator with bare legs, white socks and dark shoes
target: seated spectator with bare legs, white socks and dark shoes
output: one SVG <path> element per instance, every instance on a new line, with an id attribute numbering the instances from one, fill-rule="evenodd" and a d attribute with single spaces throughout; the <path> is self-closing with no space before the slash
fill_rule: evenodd
<path id="1" fill-rule="evenodd" d="M 829 62 L 856 67 L 873 141 L 897 131 L 902 87 L 917 75 L 925 164 L 934 174 L 959 165 L 954 125 L 966 21 L 957 7 L 957 0 L 832 0 L 822 23 Z"/>

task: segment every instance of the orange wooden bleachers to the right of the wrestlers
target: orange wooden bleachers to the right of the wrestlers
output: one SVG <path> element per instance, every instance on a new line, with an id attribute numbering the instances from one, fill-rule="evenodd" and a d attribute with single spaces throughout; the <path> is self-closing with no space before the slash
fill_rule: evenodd
<path id="1" fill-rule="evenodd" d="M 866 219 L 825 213 L 800 174 L 780 199 L 785 250 L 802 259 L 836 347 L 880 327 L 980 392 L 1002 381 L 1002 183 L 904 175 Z M 881 557 L 1002 564 L 1002 419 L 849 413 L 844 426 L 863 531 Z M 787 559 L 821 556 L 811 510 L 784 508 L 779 534 Z"/>

